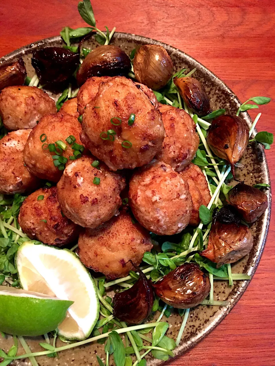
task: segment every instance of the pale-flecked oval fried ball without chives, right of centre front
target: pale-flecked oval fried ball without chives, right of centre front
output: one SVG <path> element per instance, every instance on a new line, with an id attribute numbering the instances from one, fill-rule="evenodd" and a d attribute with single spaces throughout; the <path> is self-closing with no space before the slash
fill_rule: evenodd
<path id="1" fill-rule="evenodd" d="M 152 161 L 129 182 L 129 203 L 136 219 L 158 235 L 181 232 L 189 223 L 192 201 L 188 185 L 170 165 Z"/>

